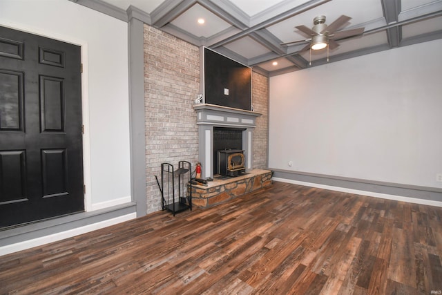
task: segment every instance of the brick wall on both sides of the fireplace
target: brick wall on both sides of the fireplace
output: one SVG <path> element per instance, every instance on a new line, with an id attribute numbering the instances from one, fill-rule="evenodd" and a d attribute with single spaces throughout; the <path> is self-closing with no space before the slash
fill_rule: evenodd
<path id="1" fill-rule="evenodd" d="M 252 76 L 253 107 L 258 113 L 253 132 L 253 168 L 267 167 L 269 79 Z M 146 102 L 147 213 L 161 210 L 162 162 L 198 162 L 198 126 L 193 102 L 200 89 L 200 51 L 172 35 L 144 25 L 144 99 Z"/>

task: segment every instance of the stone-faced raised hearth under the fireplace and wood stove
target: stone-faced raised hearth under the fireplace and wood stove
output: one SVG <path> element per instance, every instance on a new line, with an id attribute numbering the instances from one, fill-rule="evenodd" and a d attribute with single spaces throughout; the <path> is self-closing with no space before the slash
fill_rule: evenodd
<path id="1" fill-rule="evenodd" d="M 192 205 L 207 208 L 271 185 L 271 171 L 253 169 L 247 174 L 192 186 Z"/>

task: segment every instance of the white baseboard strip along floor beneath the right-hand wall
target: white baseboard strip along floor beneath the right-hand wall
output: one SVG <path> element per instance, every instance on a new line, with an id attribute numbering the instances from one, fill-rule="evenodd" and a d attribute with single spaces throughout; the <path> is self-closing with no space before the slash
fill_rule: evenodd
<path id="1" fill-rule="evenodd" d="M 347 189 L 345 187 L 333 187 L 331 185 L 303 182 L 303 181 L 290 180 L 290 179 L 285 179 L 285 178 L 272 178 L 272 180 L 303 185 L 305 187 L 317 187 L 318 189 L 329 189 L 331 191 L 341 191 L 343 193 L 354 193 L 355 195 L 369 196 L 369 197 L 381 198 L 381 199 L 386 199 L 386 200 L 396 200 L 396 201 L 409 202 L 409 203 L 414 203 L 414 204 L 423 204 L 423 205 L 429 205 L 429 206 L 442 207 L 442 202 L 440 202 L 440 201 L 389 195 L 387 193 L 375 193 L 373 191 L 360 191 L 358 189 Z"/>

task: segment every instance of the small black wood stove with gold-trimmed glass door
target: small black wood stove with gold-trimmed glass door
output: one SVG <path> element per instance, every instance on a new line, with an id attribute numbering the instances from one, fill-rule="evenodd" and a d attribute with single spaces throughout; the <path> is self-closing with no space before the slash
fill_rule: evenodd
<path id="1" fill-rule="evenodd" d="M 240 149 L 218 151 L 219 175 L 235 177 L 245 172 L 244 151 Z"/>

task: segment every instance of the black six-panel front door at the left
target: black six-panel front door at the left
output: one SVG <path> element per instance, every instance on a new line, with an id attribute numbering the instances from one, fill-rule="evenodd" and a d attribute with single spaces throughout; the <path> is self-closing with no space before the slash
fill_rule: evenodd
<path id="1" fill-rule="evenodd" d="M 0 228 L 84 211 L 79 46 L 0 27 Z"/>

